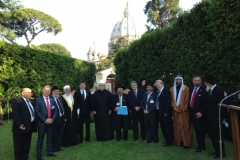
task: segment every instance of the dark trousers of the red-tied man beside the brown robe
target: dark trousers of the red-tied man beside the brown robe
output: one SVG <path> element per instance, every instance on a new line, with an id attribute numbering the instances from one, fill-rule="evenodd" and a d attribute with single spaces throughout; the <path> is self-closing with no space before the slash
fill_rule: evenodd
<path id="1" fill-rule="evenodd" d="M 204 150 L 205 146 L 205 131 L 204 131 L 204 118 L 191 117 L 194 131 L 196 133 L 196 139 L 198 143 L 198 149 Z"/>

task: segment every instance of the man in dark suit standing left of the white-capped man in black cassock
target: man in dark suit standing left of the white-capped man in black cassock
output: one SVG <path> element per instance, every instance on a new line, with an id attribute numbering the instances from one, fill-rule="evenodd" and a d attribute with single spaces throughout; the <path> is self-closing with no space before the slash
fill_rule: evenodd
<path id="1" fill-rule="evenodd" d="M 92 115 L 92 106 L 91 106 L 91 93 L 86 90 L 86 83 L 80 82 L 80 90 L 74 93 L 74 99 L 78 101 L 78 108 L 80 108 L 80 117 L 79 117 L 79 142 L 83 143 L 83 126 L 85 122 L 86 126 L 86 138 L 87 142 L 90 140 L 90 116 Z"/>

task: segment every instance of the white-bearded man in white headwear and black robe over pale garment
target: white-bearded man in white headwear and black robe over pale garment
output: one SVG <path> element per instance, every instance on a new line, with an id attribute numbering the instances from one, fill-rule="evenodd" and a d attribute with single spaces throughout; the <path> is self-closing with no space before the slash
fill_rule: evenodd
<path id="1" fill-rule="evenodd" d="M 77 101 L 74 101 L 70 86 L 64 86 L 63 90 L 65 94 L 61 98 L 63 101 L 66 123 L 63 130 L 62 146 L 70 147 L 78 144 L 77 122 L 80 115 L 80 109 L 77 108 Z"/>

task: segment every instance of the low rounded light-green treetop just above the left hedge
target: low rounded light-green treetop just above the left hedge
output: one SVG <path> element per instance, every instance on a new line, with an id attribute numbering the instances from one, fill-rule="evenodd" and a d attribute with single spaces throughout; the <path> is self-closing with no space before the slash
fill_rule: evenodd
<path id="1" fill-rule="evenodd" d="M 71 53 L 61 44 L 57 43 L 48 43 L 48 44 L 41 44 L 37 46 L 37 48 L 45 50 L 45 51 L 50 51 L 56 54 L 61 54 L 65 55 L 68 57 L 72 57 Z"/>

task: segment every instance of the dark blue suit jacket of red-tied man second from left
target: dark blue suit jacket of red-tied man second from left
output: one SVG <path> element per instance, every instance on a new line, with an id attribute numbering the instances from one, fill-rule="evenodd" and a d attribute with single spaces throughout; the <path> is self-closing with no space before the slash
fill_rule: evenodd
<path id="1" fill-rule="evenodd" d="M 57 105 L 56 105 L 54 99 L 52 99 L 51 97 L 49 97 L 49 100 L 50 100 L 50 107 L 51 107 L 51 118 L 53 121 L 55 121 L 57 114 L 58 114 Z M 35 113 L 37 115 L 38 127 L 45 126 L 46 125 L 45 121 L 48 118 L 48 112 L 47 112 L 47 106 L 45 103 L 45 99 L 43 96 L 36 98 L 36 100 L 34 102 L 34 107 L 35 107 L 34 108 Z"/>

